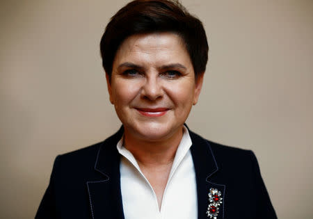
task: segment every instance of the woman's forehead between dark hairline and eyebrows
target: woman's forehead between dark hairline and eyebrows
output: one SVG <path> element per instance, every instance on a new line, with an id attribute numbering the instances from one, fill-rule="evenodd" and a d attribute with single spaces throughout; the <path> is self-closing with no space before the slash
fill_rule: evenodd
<path id="1" fill-rule="evenodd" d="M 125 61 L 154 64 L 175 61 L 191 65 L 184 41 L 175 33 L 131 35 L 120 45 L 113 65 Z"/>

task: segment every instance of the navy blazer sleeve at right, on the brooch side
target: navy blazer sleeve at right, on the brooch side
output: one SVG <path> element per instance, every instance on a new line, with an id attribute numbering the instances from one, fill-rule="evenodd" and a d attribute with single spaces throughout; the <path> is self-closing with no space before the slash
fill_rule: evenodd
<path id="1" fill-rule="evenodd" d="M 251 151 L 252 154 L 252 174 L 255 176 L 255 188 L 256 190 L 256 199 L 257 199 L 257 211 L 256 218 L 266 218 L 266 219 L 275 219 L 277 218 L 273 205 L 271 204 L 271 199 L 266 190 L 264 181 L 259 170 L 259 164 L 257 163 L 257 158 L 255 154 Z"/>

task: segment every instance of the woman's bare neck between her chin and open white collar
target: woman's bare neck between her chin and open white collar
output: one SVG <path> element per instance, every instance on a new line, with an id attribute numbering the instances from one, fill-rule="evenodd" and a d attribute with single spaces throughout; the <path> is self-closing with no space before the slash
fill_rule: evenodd
<path id="1" fill-rule="evenodd" d="M 125 131 L 124 145 L 134 155 L 139 165 L 147 168 L 172 165 L 182 135 L 183 129 L 165 140 L 152 141 L 138 139 Z"/>

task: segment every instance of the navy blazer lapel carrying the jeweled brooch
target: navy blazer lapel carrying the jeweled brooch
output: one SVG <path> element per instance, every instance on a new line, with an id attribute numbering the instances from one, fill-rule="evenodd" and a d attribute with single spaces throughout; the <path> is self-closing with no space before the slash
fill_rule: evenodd
<path id="1" fill-rule="evenodd" d="M 191 146 L 191 155 L 195 166 L 195 175 L 197 181 L 198 193 L 198 219 L 207 219 L 207 210 L 209 206 L 209 190 L 216 188 L 222 193 L 225 200 L 225 185 L 214 184 L 209 181 L 210 177 L 218 172 L 218 165 L 212 152 L 209 142 L 204 138 L 189 131 L 193 145 Z M 224 218 L 224 204 L 219 208 L 217 219 Z"/>

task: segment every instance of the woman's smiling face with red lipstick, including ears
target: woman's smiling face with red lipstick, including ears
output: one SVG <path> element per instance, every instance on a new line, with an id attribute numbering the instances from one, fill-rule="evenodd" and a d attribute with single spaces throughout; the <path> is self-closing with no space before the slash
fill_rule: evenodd
<path id="1" fill-rule="evenodd" d="M 203 74 L 202 74 L 203 76 Z M 175 33 L 132 35 L 122 42 L 113 62 L 110 101 L 125 135 L 166 140 L 182 134 L 202 79 Z"/>

